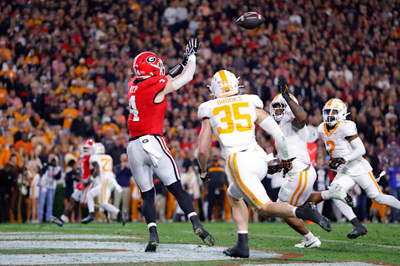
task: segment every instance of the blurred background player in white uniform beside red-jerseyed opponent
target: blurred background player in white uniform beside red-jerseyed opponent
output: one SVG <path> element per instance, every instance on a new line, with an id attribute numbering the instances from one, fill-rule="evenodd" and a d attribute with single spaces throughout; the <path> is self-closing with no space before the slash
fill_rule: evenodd
<path id="1" fill-rule="evenodd" d="M 126 222 L 126 210 L 120 211 L 118 208 L 108 202 L 111 192 L 116 189 L 119 193 L 121 193 L 122 188 L 115 180 L 112 157 L 104 153 L 104 146 L 101 143 L 96 142 L 94 145 L 93 155 L 91 155 L 89 158 L 89 165 L 93 178 L 98 177 L 100 179 L 100 183 L 90 189 L 86 195 L 89 215 L 82 219 L 81 222 L 83 224 L 87 224 L 94 220 L 94 198 L 98 197 L 100 209 L 103 209 L 109 213 L 117 214 L 118 218 L 122 222 L 122 226 L 124 226 Z"/>

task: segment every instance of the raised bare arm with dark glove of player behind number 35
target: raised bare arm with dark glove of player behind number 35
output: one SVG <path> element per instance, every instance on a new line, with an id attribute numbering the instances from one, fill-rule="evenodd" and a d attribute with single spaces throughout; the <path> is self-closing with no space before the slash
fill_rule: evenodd
<path id="1" fill-rule="evenodd" d="M 283 98 L 286 100 L 287 104 L 292 111 L 294 118 L 291 120 L 291 125 L 297 129 L 301 129 L 305 126 L 307 122 L 307 116 L 303 108 L 301 108 L 293 99 L 290 97 L 289 88 L 287 86 L 287 81 L 283 76 L 278 79 L 278 87 Z"/>

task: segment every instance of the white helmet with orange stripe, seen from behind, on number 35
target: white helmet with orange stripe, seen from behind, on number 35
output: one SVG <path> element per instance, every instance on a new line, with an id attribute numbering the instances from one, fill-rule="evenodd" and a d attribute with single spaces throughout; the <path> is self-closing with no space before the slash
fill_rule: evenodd
<path id="1" fill-rule="evenodd" d="M 215 98 L 232 96 L 239 93 L 239 78 L 228 70 L 219 70 L 212 76 L 211 86 L 208 88 Z"/>

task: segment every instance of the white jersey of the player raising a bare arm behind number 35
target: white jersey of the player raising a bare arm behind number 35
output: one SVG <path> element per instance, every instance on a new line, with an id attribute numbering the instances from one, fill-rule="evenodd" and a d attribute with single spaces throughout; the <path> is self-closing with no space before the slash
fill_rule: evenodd
<path id="1" fill-rule="evenodd" d="M 291 125 L 291 120 L 294 118 L 292 112 L 286 113 L 279 122 L 279 128 L 282 130 L 287 143 L 287 151 L 289 158 L 296 158 L 293 160 L 293 168 L 287 173 L 294 175 L 311 164 L 309 154 L 307 151 L 308 129 L 304 126 L 297 129 Z M 278 158 L 281 161 L 281 153 L 278 152 Z"/>

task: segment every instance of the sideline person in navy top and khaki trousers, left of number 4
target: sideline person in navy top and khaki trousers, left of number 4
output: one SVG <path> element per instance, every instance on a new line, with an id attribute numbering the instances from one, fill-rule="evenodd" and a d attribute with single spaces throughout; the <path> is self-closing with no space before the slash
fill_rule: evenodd
<path id="1" fill-rule="evenodd" d="M 122 187 L 122 193 L 118 193 L 114 190 L 114 201 L 113 205 L 120 210 L 128 210 L 128 203 L 130 197 L 130 177 L 132 173 L 130 172 L 128 156 L 126 153 L 120 155 L 120 163 L 115 165 L 115 179 L 116 182 Z M 122 202 L 122 207 L 119 205 Z M 113 214 L 113 219 L 116 219 L 116 214 Z"/>

